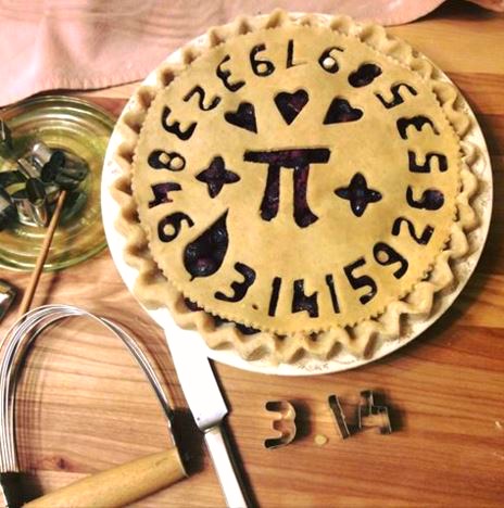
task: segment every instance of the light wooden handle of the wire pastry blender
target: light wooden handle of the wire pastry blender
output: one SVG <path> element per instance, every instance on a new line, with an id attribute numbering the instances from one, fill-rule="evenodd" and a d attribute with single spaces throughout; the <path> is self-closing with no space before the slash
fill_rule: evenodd
<path id="1" fill-rule="evenodd" d="M 24 505 L 33 508 L 121 507 L 187 477 L 177 448 L 91 474 Z"/>

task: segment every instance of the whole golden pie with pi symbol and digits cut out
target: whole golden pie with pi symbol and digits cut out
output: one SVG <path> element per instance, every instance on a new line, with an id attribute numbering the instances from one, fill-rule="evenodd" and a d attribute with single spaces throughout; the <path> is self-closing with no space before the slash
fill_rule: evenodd
<path id="1" fill-rule="evenodd" d="M 212 28 L 117 126 L 137 295 L 248 359 L 369 354 L 429 315 L 467 253 L 469 126 L 377 25 L 276 11 Z"/>

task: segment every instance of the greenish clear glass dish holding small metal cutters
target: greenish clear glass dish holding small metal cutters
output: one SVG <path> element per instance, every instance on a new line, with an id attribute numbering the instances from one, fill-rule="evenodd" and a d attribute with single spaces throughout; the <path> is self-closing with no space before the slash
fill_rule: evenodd
<path id="1" fill-rule="evenodd" d="M 100 181 L 109 138 L 115 119 L 101 107 L 65 96 L 40 96 L 1 112 L 12 130 L 14 160 L 26 154 L 35 140 L 85 161 L 89 175 L 65 201 L 45 270 L 80 263 L 106 246 L 100 211 Z M 0 153 L 0 172 L 12 167 Z M 46 228 L 16 223 L 0 231 L 0 267 L 32 270 Z"/>

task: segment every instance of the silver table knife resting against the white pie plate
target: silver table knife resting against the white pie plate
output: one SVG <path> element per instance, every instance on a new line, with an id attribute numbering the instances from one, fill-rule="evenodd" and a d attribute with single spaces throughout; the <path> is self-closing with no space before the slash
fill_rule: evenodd
<path id="1" fill-rule="evenodd" d="M 222 427 L 228 409 L 204 345 L 201 341 L 185 341 L 182 333 L 165 330 L 165 335 L 187 404 L 204 433 L 226 504 L 230 508 L 248 508 L 251 503 Z"/>

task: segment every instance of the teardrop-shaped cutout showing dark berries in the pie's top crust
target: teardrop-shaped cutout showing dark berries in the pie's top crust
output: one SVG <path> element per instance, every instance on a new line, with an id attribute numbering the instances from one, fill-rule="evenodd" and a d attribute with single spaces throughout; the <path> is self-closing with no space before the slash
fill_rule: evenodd
<path id="1" fill-rule="evenodd" d="M 184 251 L 184 266 L 196 277 L 210 277 L 222 266 L 229 238 L 226 226 L 227 211 Z"/>

